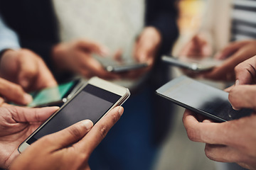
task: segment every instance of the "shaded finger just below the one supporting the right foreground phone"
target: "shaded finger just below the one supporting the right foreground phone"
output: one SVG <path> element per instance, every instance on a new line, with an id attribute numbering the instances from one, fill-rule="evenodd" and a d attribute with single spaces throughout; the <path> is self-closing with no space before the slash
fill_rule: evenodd
<path id="1" fill-rule="evenodd" d="M 233 147 L 209 145 L 205 147 L 206 157 L 216 162 L 240 162 L 243 155 Z"/>

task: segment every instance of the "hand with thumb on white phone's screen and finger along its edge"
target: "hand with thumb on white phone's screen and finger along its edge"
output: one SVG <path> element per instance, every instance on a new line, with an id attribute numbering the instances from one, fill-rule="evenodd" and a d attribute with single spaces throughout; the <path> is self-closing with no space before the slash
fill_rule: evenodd
<path id="1" fill-rule="evenodd" d="M 114 108 L 93 128 L 90 120 L 83 120 L 65 130 L 42 137 L 14 161 L 11 170 L 90 169 L 90 154 L 117 123 L 123 111 L 122 107 Z"/>

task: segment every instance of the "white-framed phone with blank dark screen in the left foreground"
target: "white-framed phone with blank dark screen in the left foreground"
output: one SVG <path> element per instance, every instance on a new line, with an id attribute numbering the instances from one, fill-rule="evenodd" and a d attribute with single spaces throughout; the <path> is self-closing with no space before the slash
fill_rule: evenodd
<path id="1" fill-rule="evenodd" d="M 129 96 L 129 89 L 93 77 L 29 136 L 18 147 L 18 152 L 23 152 L 39 138 L 68 128 L 81 120 L 90 119 L 95 125 L 112 108 L 121 106 Z"/>

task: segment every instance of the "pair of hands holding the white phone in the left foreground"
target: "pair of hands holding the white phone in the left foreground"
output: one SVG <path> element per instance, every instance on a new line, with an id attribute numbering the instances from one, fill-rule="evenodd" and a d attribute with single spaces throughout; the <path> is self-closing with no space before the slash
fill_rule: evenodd
<path id="1" fill-rule="evenodd" d="M 60 132 L 42 137 L 18 156 L 18 145 L 57 109 L 17 106 L 0 108 L 1 168 L 90 169 L 87 163 L 90 154 L 124 111 L 122 107 L 114 108 L 93 128 L 92 121 L 82 120 Z"/>

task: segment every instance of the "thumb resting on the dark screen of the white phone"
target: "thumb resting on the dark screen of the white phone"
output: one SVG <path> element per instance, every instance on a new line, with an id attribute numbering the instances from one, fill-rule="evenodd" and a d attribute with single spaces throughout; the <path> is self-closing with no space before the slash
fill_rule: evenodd
<path id="1" fill-rule="evenodd" d="M 63 149 L 81 140 L 91 130 L 92 126 L 91 120 L 82 120 L 64 130 L 47 135 L 45 139 L 41 138 L 41 142 L 44 142 L 44 140 L 50 141 L 50 143 L 53 143 L 50 149 L 53 150 Z"/>

